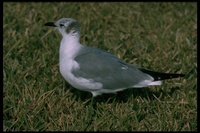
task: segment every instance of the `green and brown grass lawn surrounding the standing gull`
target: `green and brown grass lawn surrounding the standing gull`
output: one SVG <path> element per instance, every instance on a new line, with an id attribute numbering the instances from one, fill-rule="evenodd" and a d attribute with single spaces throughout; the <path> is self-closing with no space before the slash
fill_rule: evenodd
<path id="1" fill-rule="evenodd" d="M 154 71 L 185 73 L 162 86 L 97 97 L 61 77 L 61 35 L 71 17 L 81 43 Z M 196 131 L 196 3 L 3 3 L 4 131 Z"/>

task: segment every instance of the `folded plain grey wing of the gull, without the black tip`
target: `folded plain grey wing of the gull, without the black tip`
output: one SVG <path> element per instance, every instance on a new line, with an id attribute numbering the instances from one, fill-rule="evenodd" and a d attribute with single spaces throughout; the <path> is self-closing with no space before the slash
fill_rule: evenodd
<path id="1" fill-rule="evenodd" d="M 80 65 L 80 69 L 72 71 L 75 77 L 93 79 L 103 84 L 104 89 L 127 88 L 151 80 L 137 67 L 100 49 L 84 47 L 75 60 Z"/>

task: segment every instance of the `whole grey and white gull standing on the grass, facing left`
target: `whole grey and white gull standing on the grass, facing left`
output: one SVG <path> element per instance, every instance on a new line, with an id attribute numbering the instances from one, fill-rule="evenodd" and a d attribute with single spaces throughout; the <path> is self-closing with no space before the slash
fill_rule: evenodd
<path id="1" fill-rule="evenodd" d="M 74 88 L 89 91 L 93 97 L 116 93 L 127 88 L 161 85 L 161 80 L 184 74 L 160 73 L 128 64 L 106 51 L 82 45 L 80 26 L 72 18 L 48 22 L 62 34 L 59 68 L 64 79 Z"/>

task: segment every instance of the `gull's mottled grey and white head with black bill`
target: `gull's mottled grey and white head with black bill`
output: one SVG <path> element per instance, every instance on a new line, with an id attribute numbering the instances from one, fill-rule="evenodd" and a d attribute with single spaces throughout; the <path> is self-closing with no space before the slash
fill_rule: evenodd
<path id="1" fill-rule="evenodd" d="M 61 18 L 56 22 L 47 22 L 45 26 L 56 27 L 56 29 L 60 31 L 62 36 L 79 36 L 80 34 L 80 26 L 78 24 L 78 21 L 72 18 Z"/>

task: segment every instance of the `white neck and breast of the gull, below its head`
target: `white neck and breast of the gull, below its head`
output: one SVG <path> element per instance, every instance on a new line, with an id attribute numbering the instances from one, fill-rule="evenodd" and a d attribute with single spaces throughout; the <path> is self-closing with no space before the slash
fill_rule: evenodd
<path id="1" fill-rule="evenodd" d="M 103 87 L 101 83 L 94 82 L 92 79 L 85 79 L 83 77 L 75 77 L 72 73 L 73 70 L 79 70 L 80 65 L 74 60 L 76 53 L 83 46 L 77 43 L 61 42 L 59 51 L 59 67 L 60 73 L 64 79 L 73 87 L 84 90 L 98 90 Z"/>

